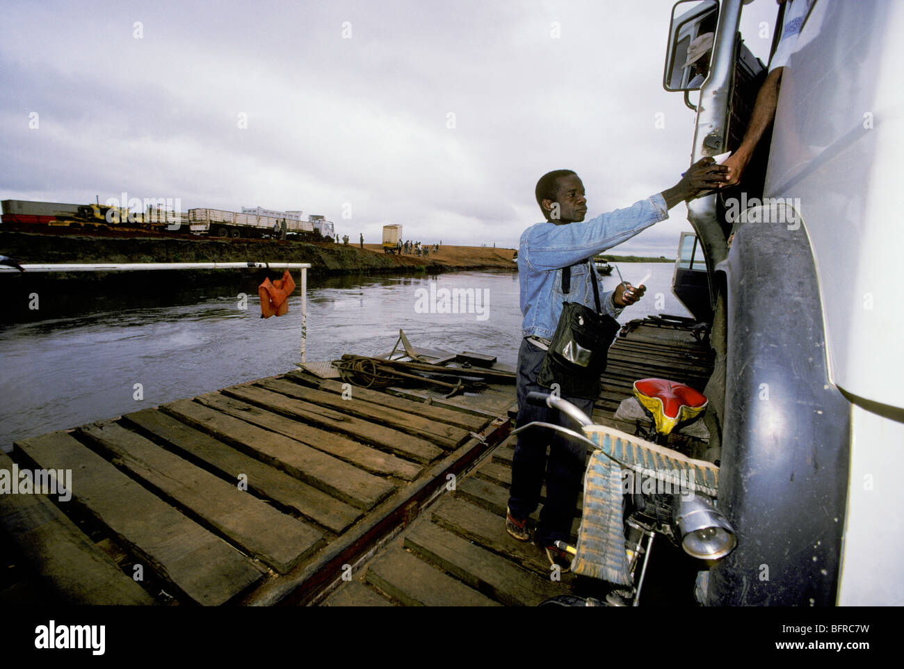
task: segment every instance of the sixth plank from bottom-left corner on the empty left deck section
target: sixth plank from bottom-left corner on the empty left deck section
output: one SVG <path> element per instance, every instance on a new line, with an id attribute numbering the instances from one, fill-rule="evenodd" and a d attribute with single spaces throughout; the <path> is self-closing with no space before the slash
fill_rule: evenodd
<path id="1" fill-rule="evenodd" d="M 219 392 L 209 392 L 194 398 L 205 407 L 222 411 L 235 418 L 245 420 L 271 432 L 278 432 L 296 439 L 310 447 L 329 453 L 340 460 L 361 467 L 363 470 L 381 476 L 398 476 L 413 481 L 423 470 L 423 466 L 383 453 L 322 429 L 312 428 L 297 420 L 286 418 L 271 411 L 261 409 L 247 402 L 226 397 Z"/>

